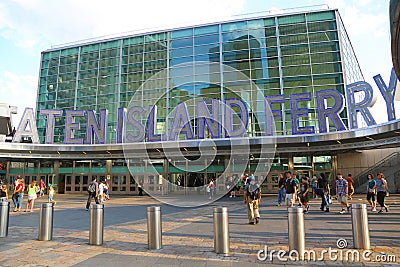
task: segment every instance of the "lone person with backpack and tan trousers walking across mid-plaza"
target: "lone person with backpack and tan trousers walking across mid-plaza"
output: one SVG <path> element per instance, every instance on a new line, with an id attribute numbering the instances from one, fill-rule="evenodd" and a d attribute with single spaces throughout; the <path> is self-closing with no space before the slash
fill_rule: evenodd
<path id="1" fill-rule="evenodd" d="M 249 224 L 258 224 L 260 222 L 259 204 L 261 201 L 261 188 L 256 183 L 254 176 L 247 178 L 247 185 L 244 188 L 244 204 L 247 205 L 247 215 Z"/>

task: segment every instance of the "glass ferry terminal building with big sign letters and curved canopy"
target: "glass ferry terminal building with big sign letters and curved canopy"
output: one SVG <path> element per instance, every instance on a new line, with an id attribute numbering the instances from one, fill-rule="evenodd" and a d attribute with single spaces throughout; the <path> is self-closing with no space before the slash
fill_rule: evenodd
<path id="1" fill-rule="evenodd" d="M 359 110 L 349 99 L 362 94 L 348 86 L 362 81 L 335 9 L 55 47 L 42 52 L 36 113 L 25 121 L 35 122 L 38 143 L 0 144 L 0 175 L 44 179 L 59 193 L 86 192 L 97 176 L 112 194 L 137 194 L 138 184 L 206 194 L 210 179 L 224 191 L 227 177 L 243 173 L 272 193 L 285 170 L 352 173 L 356 186 L 379 170 L 397 192 L 399 122 L 389 103 L 388 123 L 361 112 L 365 122 L 353 127 Z M 327 91 L 334 96 L 319 97 Z"/>

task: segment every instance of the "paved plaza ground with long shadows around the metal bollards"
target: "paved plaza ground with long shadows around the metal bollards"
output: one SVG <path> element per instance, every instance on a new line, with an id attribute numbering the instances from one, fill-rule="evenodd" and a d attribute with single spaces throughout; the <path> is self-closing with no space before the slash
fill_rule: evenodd
<path id="1" fill-rule="evenodd" d="M 287 211 L 278 207 L 275 196 L 263 197 L 261 222 L 249 225 L 242 198 L 223 198 L 199 208 L 177 208 L 160 204 L 151 197 L 112 196 L 105 203 L 104 244 L 92 246 L 89 241 L 89 212 L 85 211 L 86 195 L 56 195 L 52 241 L 38 241 L 39 203 L 33 213 L 10 213 L 8 237 L 0 239 L 1 266 L 257 266 L 257 265 L 354 265 L 394 266 L 394 262 L 347 261 L 343 256 L 330 260 L 291 261 L 288 255 L 280 261 L 259 260 L 257 253 L 288 251 Z M 355 196 L 352 203 L 366 203 L 364 196 Z M 390 196 L 389 213 L 369 211 L 372 260 L 377 256 L 400 262 L 400 196 Z M 26 204 L 26 199 L 24 199 Z M 306 248 L 320 258 L 323 249 L 337 248 L 337 240 L 345 239 L 353 248 L 351 215 L 340 215 L 335 203 L 330 213 L 319 210 L 320 199 L 311 201 L 305 214 Z M 147 207 L 162 209 L 163 248 L 147 249 Z M 228 207 L 231 254 L 214 253 L 213 208 Z M 382 257 L 385 256 L 385 257 Z M 342 261 L 340 261 L 342 259 Z"/>

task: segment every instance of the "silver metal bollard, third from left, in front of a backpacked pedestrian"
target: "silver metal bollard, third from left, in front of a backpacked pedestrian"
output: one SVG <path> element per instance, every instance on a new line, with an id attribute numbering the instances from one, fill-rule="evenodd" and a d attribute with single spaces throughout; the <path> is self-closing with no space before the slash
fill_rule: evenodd
<path id="1" fill-rule="evenodd" d="M 90 205 L 89 245 L 103 245 L 104 205 Z"/>

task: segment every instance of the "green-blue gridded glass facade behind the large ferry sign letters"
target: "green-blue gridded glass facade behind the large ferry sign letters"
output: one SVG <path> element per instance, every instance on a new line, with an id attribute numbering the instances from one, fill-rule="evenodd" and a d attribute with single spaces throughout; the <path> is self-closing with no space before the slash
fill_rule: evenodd
<path id="1" fill-rule="evenodd" d="M 196 62 L 221 66 L 209 69 L 209 76 L 219 76 L 221 84 L 204 79 Z M 229 69 L 245 76 L 224 83 Z M 154 76 L 160 72 L 165 75 Z M 185 83 L 188 76 L 190 82 Z M 242 77 L 248 79 L 243 81 Z M 316 92 L 333 88 L 345 95 L 346 83 L 363 80 L 363 76 L 337 10 L 216 23 L 51 49 L 41 58 L 37 97 L 41 142 L 46 118 L 40 110 L 62 109 L 64 114 L 65 110 L 96 110 L 99 114 L 107 109 L 106 141 L 115 143 L 117 109 L 126 108 L 149 79 L 154 81 L 142 91 L 141 100 L 144 108 L 157 104 L 156 132 L 167 128 L 166 118 L 178 103 L 198 97 L 223 101 L 234 97 L 227 88 L 246 83 L 243 94 L 249 97 L 254 84 L 264 96 L 285 95 L 282 105 L 273 106 L 284 111 L 282 118 L 275 119 L 275 129 L 276 135 L 291 135 L 291 94 L 311 93 L 311 101 L 299 104 L 309 110 L 300 126 L 314 126 L 318 133 Z M 262 135 L 253 115 L 249 114 L 248 136 Z M 347 125 L 346 109 L 340 116 Z M 84 120 L 76 118 L 76 122 Z M 80 127 L 75 138 L 86 134 L 85 124 Z M 55 143 L 63 142 L 64 128 L 64 117 L 56 118 Z M 332 124 L 329 128 L 334 131 Z"/>

